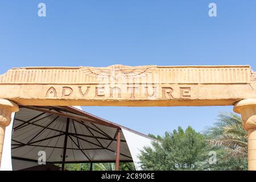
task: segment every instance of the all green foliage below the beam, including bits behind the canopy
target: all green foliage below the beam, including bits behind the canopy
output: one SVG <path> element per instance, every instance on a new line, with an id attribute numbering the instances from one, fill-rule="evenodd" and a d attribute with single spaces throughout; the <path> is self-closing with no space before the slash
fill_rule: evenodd
<path id="1" fill-rule="evenodd" d="M 139 155 L 143 170 L 246 170 L 247 132 L 241 118 L 234 113 L 218 115 L 214 126 L 204 133 L 192 127 L 185 131 L 179 127 L 160 135 L 148 134 L 158 139 L 151 147 L 144 147 Z M 216 152 L 216 163 L 209 163 L 209 151 Z M 114 163 L 93 164 L 93 170 L 113 171 Z M 67 170 L 89 170 L 90 164 L 65 164 Z M 120 163 L 121 171 L 135 170 L 133 163 Z"/>

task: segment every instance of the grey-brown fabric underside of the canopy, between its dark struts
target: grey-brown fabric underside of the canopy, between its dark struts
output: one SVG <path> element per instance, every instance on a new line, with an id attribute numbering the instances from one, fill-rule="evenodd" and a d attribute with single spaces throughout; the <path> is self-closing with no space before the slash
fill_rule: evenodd
<path id="1" fill-rule="evenodd" d="M 69 119 L 65 162 L 114 161 L 117 129 L 84 118 L 84 121 Z M 45 151 L 47 162 L 62 162 L 67 122 L 68 118 L 63 116 L 21 108 L 14 118 L 13 158 L 38 160 L 38 152 Z M 121 140 L 125 140 L 123 134 Z M 120 160 L 131 160 L 126 142 L 121 142 L 121 154 Z"/>

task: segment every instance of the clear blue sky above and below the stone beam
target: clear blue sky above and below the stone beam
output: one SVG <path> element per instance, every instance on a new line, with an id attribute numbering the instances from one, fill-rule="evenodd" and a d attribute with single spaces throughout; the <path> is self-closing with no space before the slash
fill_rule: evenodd
<path id="1" fill-rule="evenodd" d="M 38 3 L 46 3 L 39 17 Z M 217 17 L 208 16 L 210 2 Z M 256 70 L 256 1 L 1 1 L 0 74 L 12 67 L 249 64 Z M 84 107 L 162 135 L 197 131 L 232 107 Z"/>

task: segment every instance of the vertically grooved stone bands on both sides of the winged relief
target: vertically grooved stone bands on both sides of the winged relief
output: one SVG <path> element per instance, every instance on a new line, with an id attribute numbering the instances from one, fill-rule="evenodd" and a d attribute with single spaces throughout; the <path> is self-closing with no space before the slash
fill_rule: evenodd
<path id="1" fill-rule="evenodd" d="M 249 66 L 214 67 L 156 67 L 144 78 L 133 82 L 154 82 L 170 84 L 225 84 L 249 83 Z M 151 79 L 152 80 L 152 79 Z M 86 76 L 80 67 L 74 68 L 15 68 L 0 75 L 0 84 L 97 84 L 100 78 Z"/>

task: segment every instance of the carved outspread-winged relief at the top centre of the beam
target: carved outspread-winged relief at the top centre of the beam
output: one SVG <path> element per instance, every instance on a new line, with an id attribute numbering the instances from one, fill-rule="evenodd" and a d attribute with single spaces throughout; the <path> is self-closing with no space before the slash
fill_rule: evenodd
<path id="1" fill-rule="evenodd" d="M 155 65 L 129 67 L 126 65 L 116 64 L 105 68 L 80 67 L 80 69 L 87 76 L 96 78 L 106 78 L 111 76 L 114 80 L 119 80 L 121 77 L 140 78 L 147 76 L 154 71 L 155 67 Z"/>

